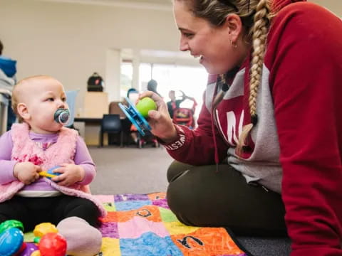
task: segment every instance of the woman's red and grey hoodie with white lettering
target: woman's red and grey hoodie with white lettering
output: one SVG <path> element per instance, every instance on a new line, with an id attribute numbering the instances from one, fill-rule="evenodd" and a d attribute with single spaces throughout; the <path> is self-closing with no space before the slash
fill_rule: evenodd
<path id="1" fill-rule="evenodd" d="M 267 39 L 257 96 L 259 122 L 251 151 L 235 154 L 250 122 L 249 60 L 212 110 L 209 76 L 195 130 L 178 126 L 165 145 L 178 161 L 214 164 L 227 158 L 249 181 L 281 193 L 291 256 L 342 255 L 342 21 L 316 4 L 279 0 Z M 214 121 L 213 121 L 214 119 Z M 214 123 L 213 127 L 212 124 Z M 217 138 L 214 140 L 214 136 Z"/>

